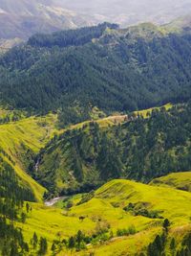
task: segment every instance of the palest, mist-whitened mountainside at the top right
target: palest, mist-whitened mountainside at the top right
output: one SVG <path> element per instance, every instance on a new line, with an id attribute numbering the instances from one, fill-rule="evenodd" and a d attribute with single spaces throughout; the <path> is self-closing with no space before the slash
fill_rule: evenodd
<path id="1" fill-rule="evenodd" d="M 139 22 L 164 24 L 191 12 L 190 0 L 54 0 L 53 3 L 123 27 Z"/>

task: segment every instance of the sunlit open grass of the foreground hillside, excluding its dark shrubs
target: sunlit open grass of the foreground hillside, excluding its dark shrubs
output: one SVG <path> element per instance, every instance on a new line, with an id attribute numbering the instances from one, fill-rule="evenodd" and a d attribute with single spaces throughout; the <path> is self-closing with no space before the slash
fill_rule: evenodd
<path id="1" fill-rule="evenodd" d="M 74 202 L 79 200 L 74 197 Z M 58 208 L 48 208 L 39 203 L 32 203 L 32 213 L 25 224 L 18 223 L 24 229 L 26 240 L 30 240 L 35 231 L 38 236 L 48 239 L 49 247 L 60 233 L 61 238 L 68 238 L 81 229 L 86 234 L 96 230 L 98 220 L 110 225 L 114 239 L 104 244 L 88 246 L 80 252 L 62 251 L 59 255 L 134 255 L 153 241 L 161 232 L 161 219 L 134 216 L 125 212 L 123 207 L 132 203 L 147 203 L 147 209 L 158 210 L 163 218 L 171 221 L 169 236 L 175 236 L 180 243 L 185 232 L 191 230 L 191 194 L 169 187 L 145 185 L 129 180 L 112 180 L 96 191 L 92 198 L 81 205 L 74 205 L 69 212 Z M 79 221 L 85 216 L 84 221 Z M 127 228 L 134 224 L 138 233 L 129 237 L 117 237 L 117 228 Z M 168 249 L 166 248 L 168 251 Z M 170 255 L 170 254 L 167 254 Z"/>

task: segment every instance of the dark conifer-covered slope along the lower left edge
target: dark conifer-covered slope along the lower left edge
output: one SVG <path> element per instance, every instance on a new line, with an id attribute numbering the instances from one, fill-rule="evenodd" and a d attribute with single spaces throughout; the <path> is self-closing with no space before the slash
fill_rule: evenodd
<path id="1" fill-rule="evenodd" d="M 36 255 L 45 255 L 46 239 L 36 241 L 35 248 L 25 242 L 21 228 L 15 222 L 25 223 L 28 214 L 32 212 L 29 202 L 35 201 L 32 191 L 20 185 L 20 179 L 8 162 L 0 157 L 0 254 L 2 256 L 28 255 L 32 249 Z M 33 241 L 33 238 L 32 238 Z"/>

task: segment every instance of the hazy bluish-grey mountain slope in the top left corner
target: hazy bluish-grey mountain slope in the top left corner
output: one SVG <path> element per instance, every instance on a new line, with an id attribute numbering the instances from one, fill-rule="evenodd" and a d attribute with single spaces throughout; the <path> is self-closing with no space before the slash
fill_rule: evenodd
<path id="1" fill-rule="evenodd" d="M 94 24 L 90 17 L 42 0 L 0 0 L 0 38 L 27 39 L 35 33 L 77 28 Z"/>

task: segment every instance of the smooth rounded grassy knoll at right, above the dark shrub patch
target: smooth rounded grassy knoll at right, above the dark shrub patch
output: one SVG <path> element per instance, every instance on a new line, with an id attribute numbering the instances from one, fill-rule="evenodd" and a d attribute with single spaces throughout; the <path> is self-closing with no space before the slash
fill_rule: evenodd
<path id="1" fill-rule="evenodd" d="M 119 206 L 129 202 L 148 202 L 149 209 L 162 211 L 161 215 L 172 221 L 172 226 L 190 221 L 191 195 L 172 188 L 145 185 L 129 180 L 113 180 L 96 191 L 96 198 L 108 202 L 119 202 Z"/>

